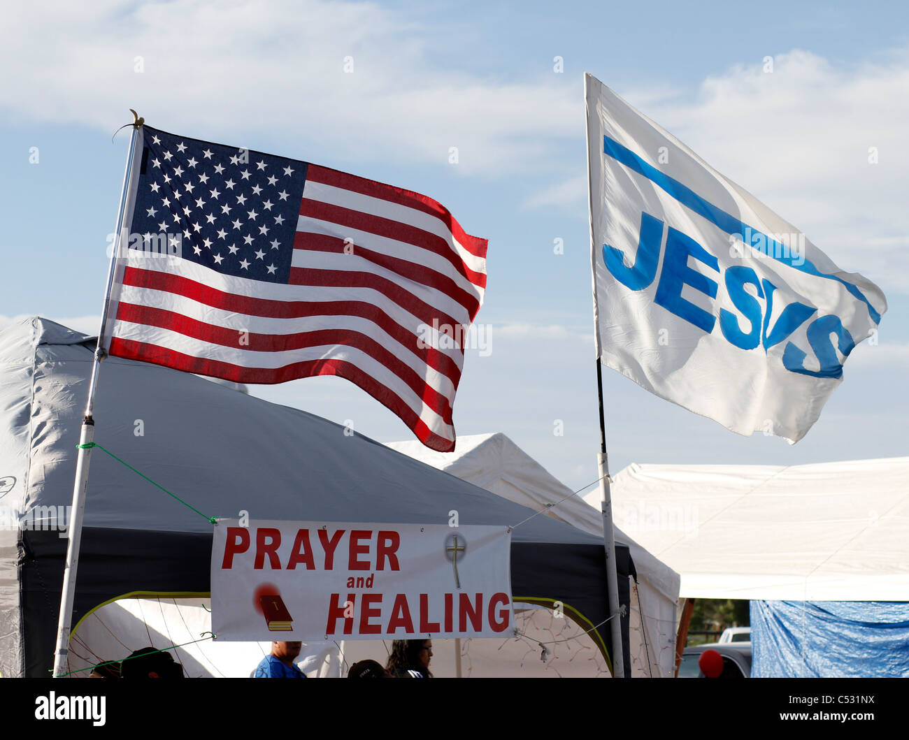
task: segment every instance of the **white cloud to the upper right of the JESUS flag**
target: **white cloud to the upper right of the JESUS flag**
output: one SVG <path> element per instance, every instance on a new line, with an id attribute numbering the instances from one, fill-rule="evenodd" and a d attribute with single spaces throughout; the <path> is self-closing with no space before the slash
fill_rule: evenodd
<path id="1" fill-rule="evenodd" d="M 773 73 L 737 66 L 704 80 L 694 101 L 674 95 L 645 113 L 841 267 L 909 291 L 906 90 L 909 50 L 851 70 L 794 50 Z"/>

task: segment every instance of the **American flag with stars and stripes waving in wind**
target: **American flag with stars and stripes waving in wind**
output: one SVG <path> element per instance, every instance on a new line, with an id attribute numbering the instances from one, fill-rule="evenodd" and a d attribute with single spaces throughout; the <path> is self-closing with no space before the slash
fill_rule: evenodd
<path id="1" fill-rule="evenodd" d="M 336 375 L 427 447 L 454 449 L 486 240 L 416 192 L 148 126 L 138 135 L 109 354 L 241 383 Z"/>

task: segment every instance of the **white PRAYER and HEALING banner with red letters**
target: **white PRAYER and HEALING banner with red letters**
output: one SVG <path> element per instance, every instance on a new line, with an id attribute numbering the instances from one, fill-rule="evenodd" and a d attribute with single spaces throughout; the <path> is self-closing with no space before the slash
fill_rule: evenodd
<path id="1" fill-rule="evenodd" d="M 212 548 L 219 640 L 510 636 L 511 534 L 501 526 L 221 519 Z"/>

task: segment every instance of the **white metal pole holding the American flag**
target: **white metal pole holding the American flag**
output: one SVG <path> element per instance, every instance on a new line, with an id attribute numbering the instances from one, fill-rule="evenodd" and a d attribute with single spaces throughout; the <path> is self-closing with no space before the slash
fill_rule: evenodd
<path id="1" fill-rule="evenodd" d="M 107 314 L 110 309 L 111 287 L 114 283 L 114 274 L 117 255 L 120 252 L 121 232 L 123 230 L 124 211 L 126 207 L 126 189 L 129 187 L 133 169 L 135 144 L 139 138 L 139 130 L 145 119 L 139 118 L 135 111 L 133 137 L 129 143 L 129 155 L 126 159 L 126 168 L 123 174 L 123 189 L 120 192 L 120 207 L 117 211 L 116 230 L 114 232 L 114 252 L 111 254 L 110 267 L 107 271 L 107 289 L 105 291 L 105 308 L 101 314 L 101 328 L 98 331 L 98 344 L 95 348 L 95 361 L 92 363 L 91 380 L 88 383 L 88 401 L 85 405 L 85 419 L 82 421 L 82 433 L 79 436 L 79 453 L 75 462 L 75 484 L 73 486 L 73 506 L 70 508 L 69 518 L 69 544 L 66 547 L 66 563 L 63 574 L 63 590 L 60 594 L 60 616 L 57 621 L 57 640 L 54 657 L 55 678 L 65 676 L 68 667 L 69 637 L 73 620 L 73 603 L 75 601 L 75 574 L 79 565 L 79 545 L 82 541 L 82 518 L 85 512 L 85 489 L 88 487 L 88 465 L 92 459 L 90 445 L 95 439 L 95 390 L 97 387 L 98 370 L 101 360 L 105 358 L 104 339 Z"/>

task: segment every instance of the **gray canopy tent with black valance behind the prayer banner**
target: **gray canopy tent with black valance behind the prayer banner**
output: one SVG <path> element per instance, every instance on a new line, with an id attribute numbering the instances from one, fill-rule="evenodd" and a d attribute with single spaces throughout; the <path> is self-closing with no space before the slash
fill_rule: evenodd
<path id="1" fill-rule="evenodd" d="M 49 676 L 95 342 L 39 317 L 0 331 L 0 674 Z M 109 358 L 95 442 L 205 516 L 514 525 L 533 512 L 359 434 L 176 370 Z M 100 450 L 93 452 L 73 625 L 119 597 L 204 596 L 212 525 Z M 616 548 L 620 600 L 634 564 Z M 604 655 L 602 538 L 535 517 L 512 533 L 515 600 L 560 601 Z M 623 618 L 624 655 L 628 622 Z M 630 674 L 627 658 L 625 675 Z"/>

